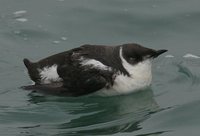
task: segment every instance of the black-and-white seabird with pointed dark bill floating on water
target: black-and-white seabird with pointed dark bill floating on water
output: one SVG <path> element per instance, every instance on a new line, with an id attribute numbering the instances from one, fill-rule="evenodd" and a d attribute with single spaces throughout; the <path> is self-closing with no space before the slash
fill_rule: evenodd
<path id="1" fill-rule="evenodd" d="M 38 62 L 24 59 L 34 85 L 25 89 L 66 96 L 127 94 L 151 84 L 152 60 L 167 50 L 136 43 L 83 45 Z"/>

